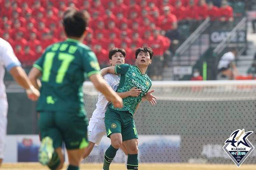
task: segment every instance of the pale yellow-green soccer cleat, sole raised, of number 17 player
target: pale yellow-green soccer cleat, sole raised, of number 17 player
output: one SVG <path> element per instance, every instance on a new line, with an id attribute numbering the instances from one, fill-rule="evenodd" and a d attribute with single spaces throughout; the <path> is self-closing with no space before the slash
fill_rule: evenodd
<path id="1" fill-rule="evenodd" d="M 53 140 L 50 137 L 43 138 L 38 153 L 39 162 L 43 165 L 47 165 L 53 157 L 53 152 Z"/>

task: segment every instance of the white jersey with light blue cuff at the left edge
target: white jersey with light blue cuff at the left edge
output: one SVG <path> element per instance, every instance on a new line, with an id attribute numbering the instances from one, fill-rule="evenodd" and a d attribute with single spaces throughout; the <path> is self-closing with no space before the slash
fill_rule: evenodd
<path id="1" fill-rule="evenodd" d="M 20 66 L 18 58 L 15 56 L 12 46 L 9 42 L 0 38 L 0 114 L 4 114 L 6 116 L 6 108 L 2 108 L 2 103 L 6 102 L 6 93 L 5 93 L 5 85 L 4 85 L 4 74 L 5 69 L 9 72 L 12 67 Z"/>

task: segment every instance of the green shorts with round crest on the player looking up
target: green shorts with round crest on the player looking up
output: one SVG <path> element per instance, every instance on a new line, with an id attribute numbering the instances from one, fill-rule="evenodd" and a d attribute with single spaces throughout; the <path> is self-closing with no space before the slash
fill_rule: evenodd
<path id="1" fill-rule="evenodd" d="M 123 141 L 137 139 L 138 133 L 132 114 L 108 108 L 105 113 L 107 137 L 113 133 L 121 133 Z"/>

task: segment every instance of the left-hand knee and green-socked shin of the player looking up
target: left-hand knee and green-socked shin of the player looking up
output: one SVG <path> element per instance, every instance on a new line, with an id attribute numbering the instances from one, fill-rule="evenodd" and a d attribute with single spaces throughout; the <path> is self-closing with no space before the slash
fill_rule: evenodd
<path id="1" fill-rule="evenodd" d="M 122 145 L 122 135 L 121 133 L 113 133 L 110 135 L 111 145 L 105 152 L 103 170 L 109 170 L 109 165 L 116 156 L 117 150 Z"/>

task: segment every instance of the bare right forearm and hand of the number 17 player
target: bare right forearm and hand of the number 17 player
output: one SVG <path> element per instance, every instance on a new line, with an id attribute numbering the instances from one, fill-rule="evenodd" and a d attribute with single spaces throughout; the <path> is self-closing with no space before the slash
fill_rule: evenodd
<path id="1" fill-rule="evenodd" d="M 122 108 L 123 100 L 117 93 L 110 88 L 110 86 L 104 81 L 100 74 L 93 74 L 89 76 L 89 79 L 94 84 L 95 88 L 100 91 L 106 99 L 111 101 L 114 107 Z"/>

